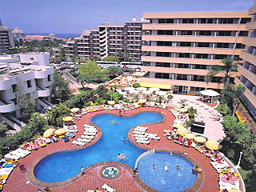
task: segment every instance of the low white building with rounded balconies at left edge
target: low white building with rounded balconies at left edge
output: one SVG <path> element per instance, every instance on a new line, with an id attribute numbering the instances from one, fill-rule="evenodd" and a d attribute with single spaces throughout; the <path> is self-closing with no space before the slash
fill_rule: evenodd
<path id="1" fill-rule="evenodd" d="M 28 53 L 18 57 L 0 57 L 0 120 L 19 130 L 19 106 L 16 92 L 19 88 L 29 94 L 38 109 L 53 106 L 50 86 L 54 67 L 49 65 L 49 54 Z"/>

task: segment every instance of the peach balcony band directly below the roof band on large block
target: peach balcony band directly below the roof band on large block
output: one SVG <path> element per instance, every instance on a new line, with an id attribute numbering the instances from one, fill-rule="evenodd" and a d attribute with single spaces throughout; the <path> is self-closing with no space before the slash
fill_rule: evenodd
<path id="1" fill-rule="evenodd" d="M 238 24 L 177 24 L 152 23 L 144 24 L 142 30 L 246 30 L 246 25 Z"/>

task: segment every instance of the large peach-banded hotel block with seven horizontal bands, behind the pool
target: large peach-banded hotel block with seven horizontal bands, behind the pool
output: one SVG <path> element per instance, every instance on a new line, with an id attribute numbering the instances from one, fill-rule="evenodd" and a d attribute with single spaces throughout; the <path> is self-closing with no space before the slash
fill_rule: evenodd
<path id="1" fill-rule="evenodd" d="M 171 85 L 174 92 L 197 93 L 223 89 L 224 74 L 205 82 L 209 70 L 223 66 L 223 58 L 239 58 L 252 16 L 237 12 L 146 13 L 143 18 L 142 83 Z M 232 81 L 238 72 L 231 74 Z"/>

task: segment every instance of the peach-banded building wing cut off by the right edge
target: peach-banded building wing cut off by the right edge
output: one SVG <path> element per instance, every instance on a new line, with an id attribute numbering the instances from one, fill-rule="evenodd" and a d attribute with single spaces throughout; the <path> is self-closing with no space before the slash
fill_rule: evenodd
<path id="1" fill-rule="evenodd" d="M 242 95 L 242 101 L 256 120 L 256 1 L 250 7 L 249 14 L 252 16 L 251 22 L 246 24 L 249 30 L 248 37 L 243 38 L 242 43 L 246 45 L 246 50 L 242 50 L 240 57 L 243 62 L 238 65 L 240 77 L 235 78 L 234 82 L 246 88 Z"/>

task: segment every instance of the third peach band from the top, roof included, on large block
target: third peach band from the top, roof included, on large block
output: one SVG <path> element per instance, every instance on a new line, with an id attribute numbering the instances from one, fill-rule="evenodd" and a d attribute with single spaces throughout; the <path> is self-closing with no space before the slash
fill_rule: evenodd
<path id="1" fill-rule="evenodd" d="M 226 42 L 242 43 L 243 37 L 214 37 L 214 36 L 192 36 L 192 35 L 142 35 L 142 41 L 166 41 L 166 42 Z"/>

